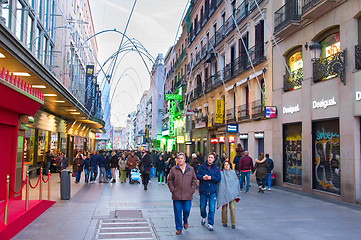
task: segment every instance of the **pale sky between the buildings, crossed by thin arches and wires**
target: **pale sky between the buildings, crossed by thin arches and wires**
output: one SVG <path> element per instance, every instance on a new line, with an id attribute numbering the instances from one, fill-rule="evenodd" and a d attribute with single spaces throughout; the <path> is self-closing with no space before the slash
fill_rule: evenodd
<path id="1" fill-rule="evenodd" d="M 95 32 L 107 29 L 124 32 L 134 1 L 89 0 Z M 187 4 L 188 0 L 138 0 L 126 35 L 139 40 L 154 58 L 159 53 L 165 57 L 181 33 L 179 25 Z M 178 28 L 179 32 L 176 35 Z M 115 32 L 97 36 L 100 63 L 104 63 L 118 50 L 120 41 L 121 35 Z M 150 61 L 146 61 L 146 64 L 151 70 Z M 148 70 L 138 53 L 121 53 L 116 65 L 118 67 L 115 68 L 110 90 L 111 123 L 115 127 L 125 126 L 127 115 L 136 110 L 143 91 L 150 87 Z"/>

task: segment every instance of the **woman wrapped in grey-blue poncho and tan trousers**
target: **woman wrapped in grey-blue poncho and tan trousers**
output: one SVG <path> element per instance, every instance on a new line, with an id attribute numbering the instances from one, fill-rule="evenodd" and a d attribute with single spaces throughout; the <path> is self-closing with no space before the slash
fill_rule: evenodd
<path id="1" fill-rule="evenodd" d="M 222 207 L 222 225 L 228 227 L 227 208 L 231 216 L 232 229 L 236 228 L 236 202 L 239 196 L 239 181 L 235 171 L 231 169 L 230 162 L 223 162 L 221 171 L 221 181 L 217 191 L 217 209 Z"/>

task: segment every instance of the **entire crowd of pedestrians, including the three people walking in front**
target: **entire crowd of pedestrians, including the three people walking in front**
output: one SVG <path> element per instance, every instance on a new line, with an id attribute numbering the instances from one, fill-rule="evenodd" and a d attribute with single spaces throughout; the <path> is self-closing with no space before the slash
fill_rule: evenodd
<path id="1" fill-rule="evenodd" d="M 68 167 L 68 159 L 63 153 L 54 156 L 48 152 L 46 158 L 50 169 L 56 162 L 59 172 Z M 48 162 L 48 161 L 47 161 Z M 94 184 L 116 183 L 116 171 L 119 171 L 120 183 L 140 183 L 133 178 L 133 173 L 141 175 L 144 190 L 152 178 L 159 184 L 167 183 L 172 193 L 176 234 L 188 228 L 188 217 L 192 206 L 192 196 L 199 188 L 201 225 L 214 231 L 214 214 L 216 208 L 222 209 L 222 225 L 228 227 L 228 209 L 232 229 L 236 228 L 236 202 L 240 200 L 240 192 L 248 193 L 250 176 L 255 173 L 258 192 L 271 190 L 273 161 L 269 154 L 261 153 L 253 161 L 248 151 L 237 145 L 233 163 L 223 153 L 219 157 L 215 152 L 204 157 L 199 151 L 187 157 L 184 153 L 157 151 L 93 151 L 77 152 L 73 159 L 73 177 L 75 183 L 81 181 L 84 171 L 84 182 Z M 134 175 L 135 176 L 135 175 Z M 244 191 L 245 187 L 245 191 Z M 208 207 L 208 208 L 207 208 Z M 208 209 L 208 211 L 207 211 Z"/>

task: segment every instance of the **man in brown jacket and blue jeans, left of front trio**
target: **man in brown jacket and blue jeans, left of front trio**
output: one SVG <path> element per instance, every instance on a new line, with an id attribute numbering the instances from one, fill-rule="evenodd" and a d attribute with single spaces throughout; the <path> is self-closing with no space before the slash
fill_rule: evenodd
<path id="1" fill-rule="evenodd" d="M 184 229 L 188 228 L 188 217 L 196 186 L 197 178 L 194 169 L 186 163 L 185 154 L 179 153 L 177 156 L 177 165 L 172 167 L 168 177 L 168 187 L 172 193 L 177 235 L 182 234 L 183 227 Z"/>

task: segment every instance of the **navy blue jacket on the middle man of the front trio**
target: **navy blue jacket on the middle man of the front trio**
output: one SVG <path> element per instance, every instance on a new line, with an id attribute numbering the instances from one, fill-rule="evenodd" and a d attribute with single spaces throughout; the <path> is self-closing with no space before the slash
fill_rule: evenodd
<path id="1" fill-rule="evenodd" d="M 221 172 L 219 167 L 214 163 L 209 166 L 208 162 L 199 166 L 197 171 L 197 179 L 199 182 L 199 193 L 212 194 L 217 192 L 219 181 L 221 181 Z M 203 180 L 203 176 L 211 176 L 211 180 Z"/>

